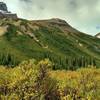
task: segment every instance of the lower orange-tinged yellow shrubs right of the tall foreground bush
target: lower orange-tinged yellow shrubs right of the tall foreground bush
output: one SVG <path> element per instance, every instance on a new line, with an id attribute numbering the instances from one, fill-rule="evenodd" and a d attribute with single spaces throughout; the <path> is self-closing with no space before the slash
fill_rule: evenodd
<path id="1" fill-rule="evenodd" d="M 50 74 L 58 80 L 61 100 L 100 100 L 100 69 L 51 71 Z"/>

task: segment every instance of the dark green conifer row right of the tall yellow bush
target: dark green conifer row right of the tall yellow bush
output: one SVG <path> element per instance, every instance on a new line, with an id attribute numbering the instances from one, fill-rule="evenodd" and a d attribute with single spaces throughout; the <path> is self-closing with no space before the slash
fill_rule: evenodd
<path id="1" fill-rule="evenodd" d="M 66 69 L 76 70 L 81 67 L 96 66 L 95 58 L 91 56 L 80 56 L 80 57 L 57 57 L 55 55 L 46 54 L 45 58 L 49 58 L 53 62 L 53 69 Z"/>

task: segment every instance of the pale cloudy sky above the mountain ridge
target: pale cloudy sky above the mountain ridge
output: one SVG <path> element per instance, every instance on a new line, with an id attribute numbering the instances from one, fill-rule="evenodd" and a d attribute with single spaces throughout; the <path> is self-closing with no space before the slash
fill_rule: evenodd
<path id="1" fill-rule="evenodd" d="M 2 0 L 1 0 L 2 1 Z M 88 33 L 100 32 L 100 0 L 4 0 L 11 12 L 26 19 L 65 19 Z"/>

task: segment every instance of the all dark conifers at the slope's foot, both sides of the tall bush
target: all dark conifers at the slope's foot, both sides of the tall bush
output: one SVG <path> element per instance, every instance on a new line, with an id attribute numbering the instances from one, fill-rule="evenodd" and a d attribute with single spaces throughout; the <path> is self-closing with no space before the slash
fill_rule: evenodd
<path id="1" fill-rule="evenodd" d="M 38 57 L 38 60 L 48 58 L 53 63 L 53 69 L 66 69 L 76 70 L 81 67 L 96 66 L 96 61 L 91 56 L 80 56 L 80 57 L 60 57 L 54 54 L 45 52 Z M 5 66 L 16 66 L 20 63 L 18 59 L 10 53 L 0 53 L 0 65 Z"/>

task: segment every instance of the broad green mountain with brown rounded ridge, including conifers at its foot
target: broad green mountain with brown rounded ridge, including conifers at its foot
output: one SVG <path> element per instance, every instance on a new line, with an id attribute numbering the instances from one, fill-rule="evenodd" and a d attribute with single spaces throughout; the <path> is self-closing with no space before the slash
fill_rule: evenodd
<path id="1" fill-rule="evenodd" d="M 69 65 L 71 68 L 99 66 L 100 39 L 82 33 L 58 18 L 1 19 L 0 64 L 13 66 L 32 58 L 49 58 L 54 69 L 68 69 Z"/>

